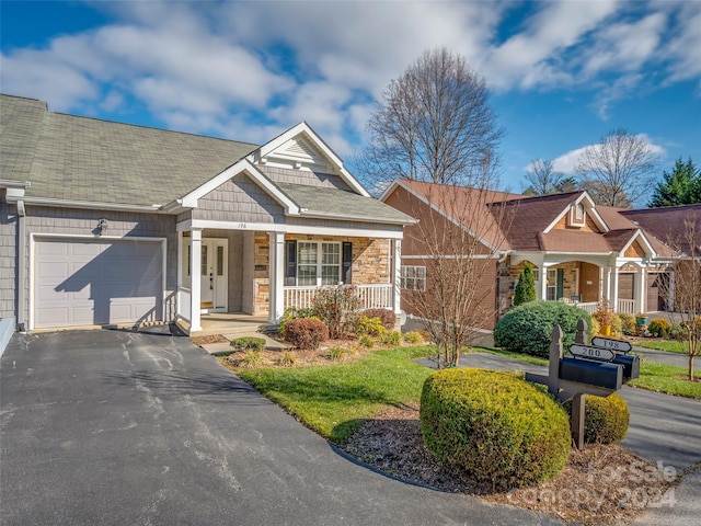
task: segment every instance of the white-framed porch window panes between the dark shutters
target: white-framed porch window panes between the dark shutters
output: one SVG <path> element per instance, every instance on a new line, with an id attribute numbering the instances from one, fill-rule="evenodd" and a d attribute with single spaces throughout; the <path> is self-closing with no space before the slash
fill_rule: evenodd
<path id="1" fill-rule="evenodd" d="M 298 286 L 336 285 L 341 281 L 341 243 L 297 241 Z"/>

